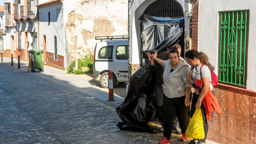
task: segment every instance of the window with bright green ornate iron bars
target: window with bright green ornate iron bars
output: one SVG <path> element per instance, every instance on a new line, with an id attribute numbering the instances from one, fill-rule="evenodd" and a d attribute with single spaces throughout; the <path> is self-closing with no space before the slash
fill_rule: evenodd
<path id="1" fill-rule="evenodd" d="M 219 82 L 246 86 L 249 10 L 221 11 Z"/>

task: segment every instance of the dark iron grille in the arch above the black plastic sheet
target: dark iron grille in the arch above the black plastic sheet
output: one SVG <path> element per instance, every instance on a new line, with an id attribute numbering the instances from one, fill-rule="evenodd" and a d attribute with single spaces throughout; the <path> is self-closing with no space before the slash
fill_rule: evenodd
<path id="1" fill-rule="evenodd" d="M 184 16 L 181 5 L 175 0 L 158 0 L 151 3 L 143 14 L 154 17 L 179 17 Z"/>

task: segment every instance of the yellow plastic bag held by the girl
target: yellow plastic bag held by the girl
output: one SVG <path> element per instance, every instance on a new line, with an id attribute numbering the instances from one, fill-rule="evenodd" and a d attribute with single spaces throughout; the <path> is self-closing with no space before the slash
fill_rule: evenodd
<path id="1" fill-rule="evenodd" d="M 186 130 L 186 137 L 192 139 L 204 139 L 204 123 L 201 109 L 196 109 Z"/>

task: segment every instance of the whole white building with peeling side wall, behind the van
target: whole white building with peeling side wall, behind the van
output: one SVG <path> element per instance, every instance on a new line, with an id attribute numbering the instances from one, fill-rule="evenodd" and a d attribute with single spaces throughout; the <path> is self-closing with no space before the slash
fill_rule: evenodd
<path id="1" fill-rule="evenodd" d="M 78 59 L 82 59 L 93 54 L 96 36 L 127 35 L 128 11 L 124 0 L 43 0 L 37 7 L 39 49 L 46 50 L 46 65 L 55 68 L 68 69 L 75 59 L 75 45 Z"/>

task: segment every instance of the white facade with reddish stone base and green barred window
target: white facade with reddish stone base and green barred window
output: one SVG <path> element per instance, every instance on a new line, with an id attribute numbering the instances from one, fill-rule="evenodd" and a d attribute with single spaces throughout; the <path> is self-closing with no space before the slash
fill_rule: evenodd
<path id="1" fill-rule="evenodd" d="M 198 51 L 215 66 L 219 81 L 214 91 L 223 110 L 209 121 L 209 139 L 255 143 L 256 2 L 199 0 L 198 5 Z"/>

